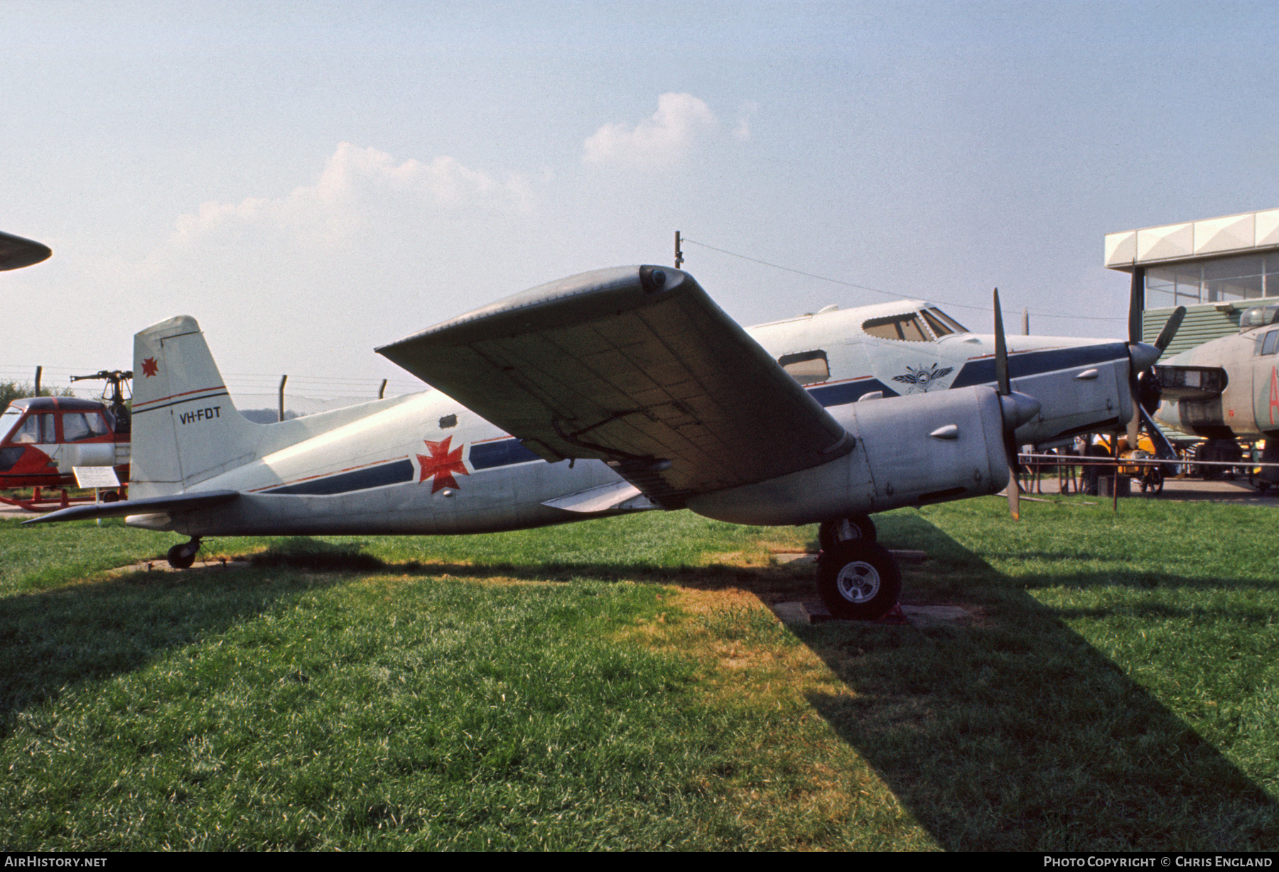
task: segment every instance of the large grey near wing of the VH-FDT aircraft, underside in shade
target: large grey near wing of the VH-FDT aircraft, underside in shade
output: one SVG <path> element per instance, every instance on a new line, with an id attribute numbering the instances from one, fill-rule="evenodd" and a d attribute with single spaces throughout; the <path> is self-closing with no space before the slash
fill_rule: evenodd
<path id="1" fill-rule="evenodd" d="M 604 460 L 665 508 L 852 448 L 844 428 L 678 270 L 583 272 L 377 352 L 541 458 Z"/>

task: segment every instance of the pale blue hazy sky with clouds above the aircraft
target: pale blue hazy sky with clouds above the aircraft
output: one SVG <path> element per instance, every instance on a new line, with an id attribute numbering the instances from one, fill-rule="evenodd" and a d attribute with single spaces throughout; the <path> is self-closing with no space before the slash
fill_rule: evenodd
<path id="1" fill-rule="evenodd" d="M 0 3 L 0 230 L 54 249 L 0 372 L 191 315 L 224 373 L 405 385 L 375 346 L 675 230 L 742 323 L 998 285 L 1122 336 L 1106 233 L 1279 207 L 1274 4 L 460 6 Z"/>

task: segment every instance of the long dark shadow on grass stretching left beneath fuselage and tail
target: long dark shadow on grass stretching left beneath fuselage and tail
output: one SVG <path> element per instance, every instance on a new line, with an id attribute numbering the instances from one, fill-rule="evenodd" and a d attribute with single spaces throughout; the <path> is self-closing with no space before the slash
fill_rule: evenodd
<path id="1" fill-rule="evenodd" d="M 68 689 L 146 667 L 168 651 L 216 637 L 288 597 L 341 584 L 358 573 L 523 582 L 749 586 L 749 570 L 606 563 L 389 564 L 359 543 L 295 537 L 251 555 L 252 568 L 133 572 L 4 598 L 0 610 L 0 738 L 15 716 Z M 318 572 L 317 572 L 318 570 Z"/>

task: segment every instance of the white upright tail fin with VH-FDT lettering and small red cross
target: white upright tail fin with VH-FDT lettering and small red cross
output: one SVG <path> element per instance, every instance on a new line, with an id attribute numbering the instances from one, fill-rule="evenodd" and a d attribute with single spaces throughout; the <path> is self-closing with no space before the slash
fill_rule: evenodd
<path id="1" fill-rule="evenodd" d="M 133 338 L 130 497 L 180 494 L 248 463 L 261 430 L 231 403 L 194 318 Z"/>

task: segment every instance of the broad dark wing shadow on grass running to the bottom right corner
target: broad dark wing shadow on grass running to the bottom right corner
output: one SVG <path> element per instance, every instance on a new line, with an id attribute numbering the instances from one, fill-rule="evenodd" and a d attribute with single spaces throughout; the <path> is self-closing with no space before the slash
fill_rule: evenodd
<path id="1" fill-rule="evenodd" d="M 810 694 L 812 706 L 943 848 L 1279 846 L 1275 802 L 1063 612 L 922 518 L 900 520 L 912 547 L 959 568 L 949 579 L 945 569 L 908 572 L 903 598 L 963 600 L 978 618 L 799 635 L 853 690 Z M 1151 615 L 1170 616 L 1157 606 Z"/>

